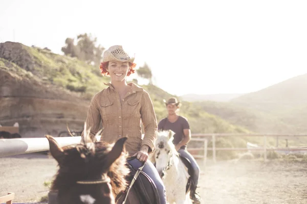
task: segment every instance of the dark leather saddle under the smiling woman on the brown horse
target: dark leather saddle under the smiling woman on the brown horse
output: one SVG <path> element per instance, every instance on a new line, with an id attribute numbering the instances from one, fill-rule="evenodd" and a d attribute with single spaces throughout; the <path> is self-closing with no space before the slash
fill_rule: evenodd
<path id="1" fill-rule="evenodd" d="M 130 169 L 130 173 L 127 177 L 127 181 L 130 182 L 133 180 L 137 170 L 135 170 L 131 165 L 127 164 Z M 127 189 L 121 195 L 119 195 L 116 200 L 123 200 L 123 197 L 126 196 Z M 143 171 L 140 171 L 139 176 L 137 177 L 135 183 L 131 187 L 129 194 L 134 194 L 133 196 L 138 197 L 139 203 L 148 203 L 148 204 L 160 204 L 159 194 L 155 183 L 152 179 Z M 121 203 L 121 202 L 120 202 Z"/>

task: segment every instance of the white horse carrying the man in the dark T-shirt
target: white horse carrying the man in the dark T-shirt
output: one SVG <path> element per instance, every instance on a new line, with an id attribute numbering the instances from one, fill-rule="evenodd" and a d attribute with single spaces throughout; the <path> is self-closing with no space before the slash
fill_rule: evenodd
<path id="1" fill-rule="evenodd" d="M 188 169 L 179 158 L 179 153 L 172 143 L 174 132 L 159 131 L 156 140 L 156 151 L 149 160 L 156 163 L 156 168 L 161 176 L 169 203 L 192 203 L 190 190 L 186 186 L 190 177 Z"/>

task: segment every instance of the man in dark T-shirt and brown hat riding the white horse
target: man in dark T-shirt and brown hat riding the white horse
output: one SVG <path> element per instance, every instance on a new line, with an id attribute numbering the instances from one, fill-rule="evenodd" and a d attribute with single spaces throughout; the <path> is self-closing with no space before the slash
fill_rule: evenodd
<path id="1" fill-rule="evenodd" d="M 193 203 L 201 203 L 200 196 L 196 193 L 198 185 L 200 168 L 193 158 L 193 156 L 187 151 L 187 143 L 191 139 L 191 131 L 188 121 L 178 115 L 181 103 L 178 102 L 177 98 L 169 98 L 167 101 L 163 100 L 166 105 L 167 117 L 162 119 L 158 124 L 158 130 L 172 130 L 175 135 L 173 136 L 173 143 L 180 156 L 187 158 L 191 162 L 192 166 L 192 186 L 190 192 L 190 198 Z"/>

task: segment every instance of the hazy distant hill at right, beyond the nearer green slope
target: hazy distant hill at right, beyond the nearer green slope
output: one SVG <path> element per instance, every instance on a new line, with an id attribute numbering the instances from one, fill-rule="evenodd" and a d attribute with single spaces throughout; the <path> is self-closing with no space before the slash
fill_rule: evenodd
<path id="1" fill-rule="evenodd" d="M 307 133 L 307 74 L 228 102 L 195 104 L 210 114 L 257 133 Z"/>

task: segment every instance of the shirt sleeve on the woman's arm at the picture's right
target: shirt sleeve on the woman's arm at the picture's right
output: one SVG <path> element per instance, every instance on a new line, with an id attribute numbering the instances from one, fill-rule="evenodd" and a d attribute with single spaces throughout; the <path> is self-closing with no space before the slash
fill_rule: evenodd
<path id="1" fill-rule="evenodd" d="M 144 91 L 141 99 L 141 119 L 144 125 L 144 138 L 142 141 L 142 146 L 147 145 L 150 149 L 148 149 L 148 154 L 155 151 L 155 142 L 157 139 L 157 117 L 155 110 L 153 109 L 153 104 L 150 99 L 149 94 Z"/>

